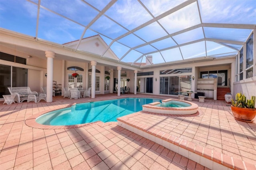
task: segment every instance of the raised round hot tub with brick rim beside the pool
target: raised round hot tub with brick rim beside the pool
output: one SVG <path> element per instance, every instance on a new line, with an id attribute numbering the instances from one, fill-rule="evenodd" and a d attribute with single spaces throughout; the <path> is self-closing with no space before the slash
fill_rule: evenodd
<path id="1" fill-rule="evenodd" d="M 154 102 L 142 105 L 142 111 L 171 115 L 192 115 L 197 113 L 197 109 L 196 103 L 177 99 L 166 99 L 162 100 L 162 103 Z"/>

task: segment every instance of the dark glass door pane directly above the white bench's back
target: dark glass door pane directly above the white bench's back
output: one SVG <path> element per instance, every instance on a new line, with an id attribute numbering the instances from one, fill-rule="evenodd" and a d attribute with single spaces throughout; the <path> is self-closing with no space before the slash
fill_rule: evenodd
<path id="1" fill-rule="evenodd" d="M 28 69 L 12 67 L 12 87 L 28 86 Z"/>

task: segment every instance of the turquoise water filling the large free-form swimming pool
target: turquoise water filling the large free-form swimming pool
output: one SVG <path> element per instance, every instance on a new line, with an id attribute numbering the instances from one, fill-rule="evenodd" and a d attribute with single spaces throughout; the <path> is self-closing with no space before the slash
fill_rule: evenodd
<path id="1" fill-rule="evenodd" d="M 36 119 L 42 125 L 77 125 L 96 121 L 116 122 L 118 117 L 142 111 L 142 105 L 161 102 L 153 98 L 125 98 L 90 103 L 51 111 Z"/>

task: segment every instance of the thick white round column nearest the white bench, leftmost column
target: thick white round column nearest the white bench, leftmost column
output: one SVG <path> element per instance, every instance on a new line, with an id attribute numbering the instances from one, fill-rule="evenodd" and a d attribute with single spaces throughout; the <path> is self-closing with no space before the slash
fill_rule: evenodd
<path id="1" fill-rule="evenodd" d="M 52 51 L 45 51 L 47 57 L 47 92 L 46 102 L 52 102 L 52 80 L 53 80 L 53 58 L 55 53 Z"/>

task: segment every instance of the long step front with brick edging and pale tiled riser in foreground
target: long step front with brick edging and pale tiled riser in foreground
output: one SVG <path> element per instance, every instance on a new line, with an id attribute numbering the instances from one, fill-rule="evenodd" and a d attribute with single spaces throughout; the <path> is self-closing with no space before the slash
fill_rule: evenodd
<path id="1" fill-rule="evenodd" d="M 132 121 L 126 117 L 120 117 L 117 120 L 120 127 L 126 128 L 131 132 L 152 140 L 153 142 L 156 142 L 157 144 L 160 144 L 165 148 L 168 148 L 209 169 L 230 170 L 237 168 L 236 162 L 241 162 L 243 164 L 243 161 L 240 159 L 227 156 L 220 152 L 216 152 L 215 150 L 211 150 L 193 142 L 189 142 L 182 138 L 176 137 L 172 134 L 148 127 L 136 121 Z M 244 162 L 243 166 L 244 169 L 250 169 L 251 167 L 254 167 L 248 162 Z"/>

